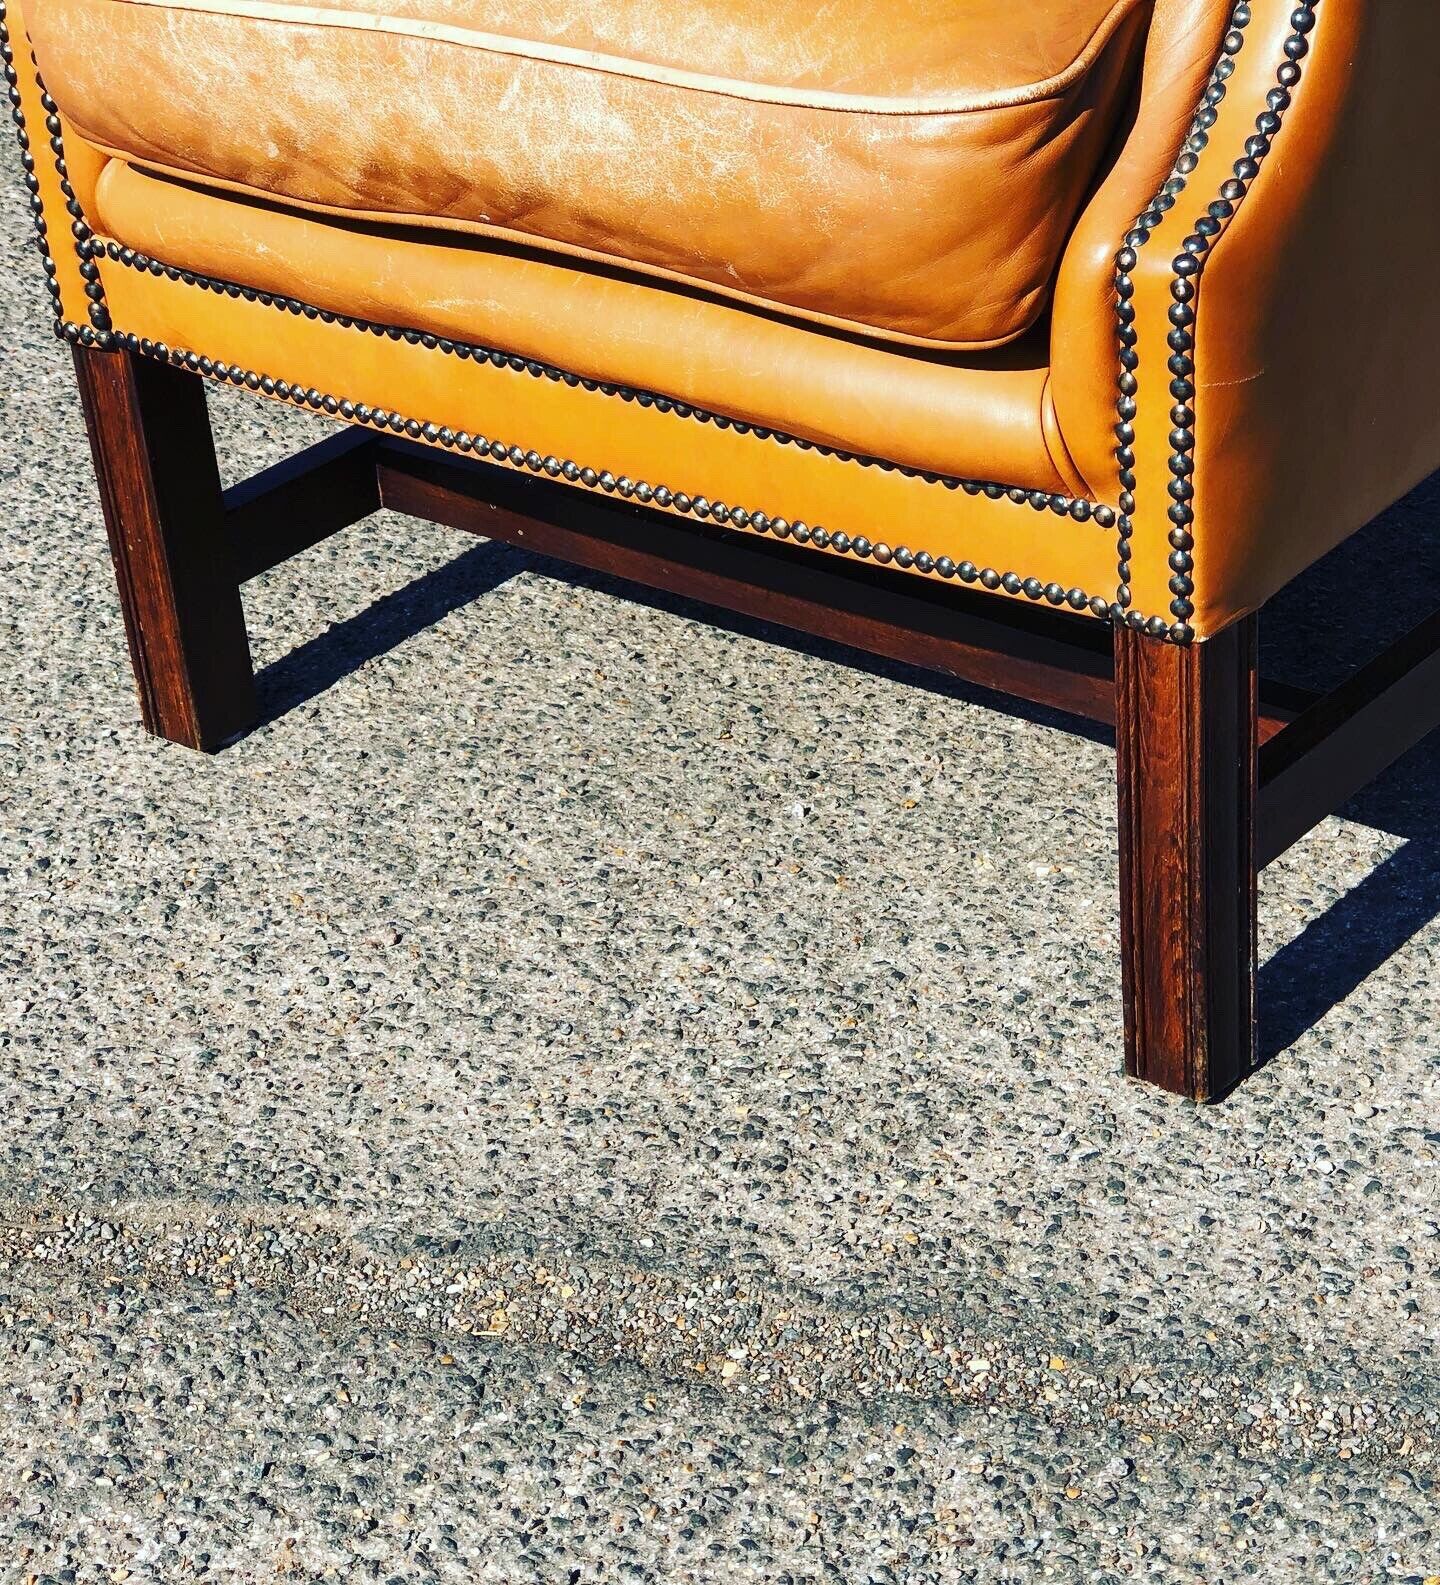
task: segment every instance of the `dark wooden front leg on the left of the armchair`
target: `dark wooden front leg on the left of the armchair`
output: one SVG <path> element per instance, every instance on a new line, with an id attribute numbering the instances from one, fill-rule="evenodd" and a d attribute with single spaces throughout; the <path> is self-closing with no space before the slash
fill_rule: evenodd
<path id="1" fill-rule="evenodd" d="M 257 704 L 203 382 L 87 347 L 74 372 L 146 729 L 219 748 Z"/>

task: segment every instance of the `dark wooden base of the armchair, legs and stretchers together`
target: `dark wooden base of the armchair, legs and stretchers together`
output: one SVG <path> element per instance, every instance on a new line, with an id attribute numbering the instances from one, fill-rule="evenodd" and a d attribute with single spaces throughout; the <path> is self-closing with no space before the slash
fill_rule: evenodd
<path id="1" fill-rule="evenodd" d="M 1256 617 L 1168 644 L 364 430 L 222 491 L 200 376 L 74 365 L 141 713 L 171 742 L 255 724 L 241 585 L 379 507 L 1114 724 L 1125 1067 L 1196 1100 L 1255 1065 L 1259 870 L 1440 724 L 1440 615 L 1320 697 L 1258 682 Z"/>

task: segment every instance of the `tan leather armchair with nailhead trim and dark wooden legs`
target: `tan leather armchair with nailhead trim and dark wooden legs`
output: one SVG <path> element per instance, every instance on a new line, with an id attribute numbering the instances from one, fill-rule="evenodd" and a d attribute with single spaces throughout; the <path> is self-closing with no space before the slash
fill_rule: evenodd
<path id="1" fill-rule="evenodd" d="M 1126 1064 L 1435 723 L 1255 613 L 1440 464 L 1434 0 L 6 0 L 146 724 L 380 504 L 1115 723 Z M 222 496 L 203 382 L 347 428 Z M 1391 577 L 1397 569 L 1356 569 Z"/>

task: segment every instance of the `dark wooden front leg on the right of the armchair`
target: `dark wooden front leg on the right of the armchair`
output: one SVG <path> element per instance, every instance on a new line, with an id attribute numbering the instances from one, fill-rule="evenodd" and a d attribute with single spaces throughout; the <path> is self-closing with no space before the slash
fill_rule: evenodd
<path id="1" fill-rule="evenodd" d="M 1125 1068 L 1194 1100 L 1255 1065 L 1256 628 L 1115 632 Z"/>

